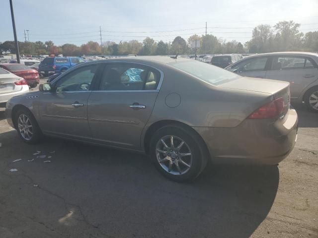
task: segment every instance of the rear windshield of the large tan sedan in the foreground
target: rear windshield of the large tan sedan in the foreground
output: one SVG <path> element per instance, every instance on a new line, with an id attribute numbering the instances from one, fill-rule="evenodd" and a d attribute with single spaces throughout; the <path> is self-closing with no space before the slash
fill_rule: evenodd
<path id="1" fill-rule="evenodd" d="M 187 72 L 203 81 L 210 84 L 220 84 L 224 81 L 239 78 L 238 74 L 232 73 L 223 68 L 216 67 L 214 65 L 203 63 L 195 60 L 181 61 L 169 63 L 172 67 Z"/>

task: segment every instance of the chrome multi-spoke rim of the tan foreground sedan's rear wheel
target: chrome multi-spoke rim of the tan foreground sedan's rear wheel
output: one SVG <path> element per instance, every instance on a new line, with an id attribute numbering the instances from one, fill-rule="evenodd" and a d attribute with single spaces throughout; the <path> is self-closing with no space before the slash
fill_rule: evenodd
<path id="1" fill-rule="evenodd" d="M 162 169 L 172 175 L 183 175 L 192 166 L 190 147 L 174 135 L 166 135 L 157 142 L 156 156 Z"/>

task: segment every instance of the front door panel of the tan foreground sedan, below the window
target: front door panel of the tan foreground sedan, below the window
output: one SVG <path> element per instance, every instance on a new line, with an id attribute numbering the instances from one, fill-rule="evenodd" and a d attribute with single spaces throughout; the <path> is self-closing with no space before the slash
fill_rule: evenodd
<path id="1" fill-rule="evenodd" d="M 91 91 L 43 93 L 39 105 L 43 132 L 68 137 L 91 138 L 87 100 Z M 72 106 L 75 103 L 79 106 Z"/>

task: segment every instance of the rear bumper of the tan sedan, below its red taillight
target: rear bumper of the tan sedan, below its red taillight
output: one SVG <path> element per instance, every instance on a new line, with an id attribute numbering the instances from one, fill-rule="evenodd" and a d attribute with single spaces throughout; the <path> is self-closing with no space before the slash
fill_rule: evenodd
<path id="1" fill-rule="evenodd" d="M 283 119 L 245 119 L 237 127 L 193 127 L 215 162 L 274 165 L 293 150 L 298 116 L 290 109 Z"/>

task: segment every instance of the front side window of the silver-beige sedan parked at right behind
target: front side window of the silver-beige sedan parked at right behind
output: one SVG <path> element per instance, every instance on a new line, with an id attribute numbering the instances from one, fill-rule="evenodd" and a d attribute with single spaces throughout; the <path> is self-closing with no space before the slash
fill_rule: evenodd
<path id="1" fill-rule="evenodd" d="M 252 58 L 239 62 L 229 70 L 232 72 L 253 72 L 265 70 L 267 57 Z"/>

